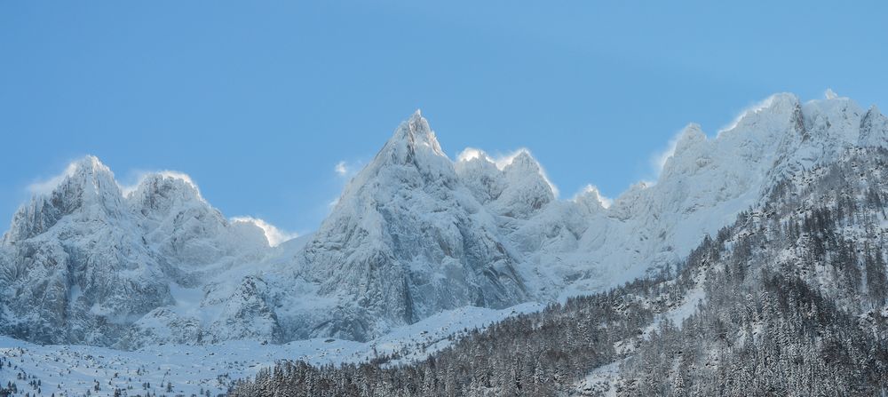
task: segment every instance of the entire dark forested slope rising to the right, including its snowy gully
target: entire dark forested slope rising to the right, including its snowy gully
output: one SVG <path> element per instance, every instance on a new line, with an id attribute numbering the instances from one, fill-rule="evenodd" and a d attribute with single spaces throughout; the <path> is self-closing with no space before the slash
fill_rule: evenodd
<path id="1" fill-rule="evenodd" d="M 473 332 L 410 365 L 284 361 L 230 395 L 882 395 L 888 150 L 791 172 L 676 271 Z"/>

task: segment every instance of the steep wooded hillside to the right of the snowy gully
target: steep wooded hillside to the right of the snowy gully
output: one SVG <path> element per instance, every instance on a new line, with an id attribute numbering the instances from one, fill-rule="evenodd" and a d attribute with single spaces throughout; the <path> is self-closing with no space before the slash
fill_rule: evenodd
<path id="1" fill-rule="evenodd" d="M 706 305 L 623 362 L 620 395 L 880 395 L 888 384 L 886 153 L 779 184 L 707 240 Z"/>

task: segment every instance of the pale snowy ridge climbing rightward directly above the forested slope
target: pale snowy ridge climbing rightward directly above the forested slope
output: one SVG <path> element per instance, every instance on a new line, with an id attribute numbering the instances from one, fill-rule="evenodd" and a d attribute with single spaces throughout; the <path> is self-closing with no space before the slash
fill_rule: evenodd
<path id="1" fill-rule="evenodd" d="M 865 112 L 847 98 L 803 104 L 777 94 L 715 138 L 688 125 L 653 185 L 631 187 L 607 209 L 595 205 L 594 190 L 553 203 L 528 221 L 512 221 L 509 235 L 518 246 L 541 247 L 528 252 L 525 270 L 544 274 L 562 296 L 601 290 L 678 262 L 777 181 L 830 163 L 847 147 L 885 145 L 886 133 L 875 107 Z M 567 219 L 583 213 L 578 204 L 589 215 L 572 228 Z"/>

